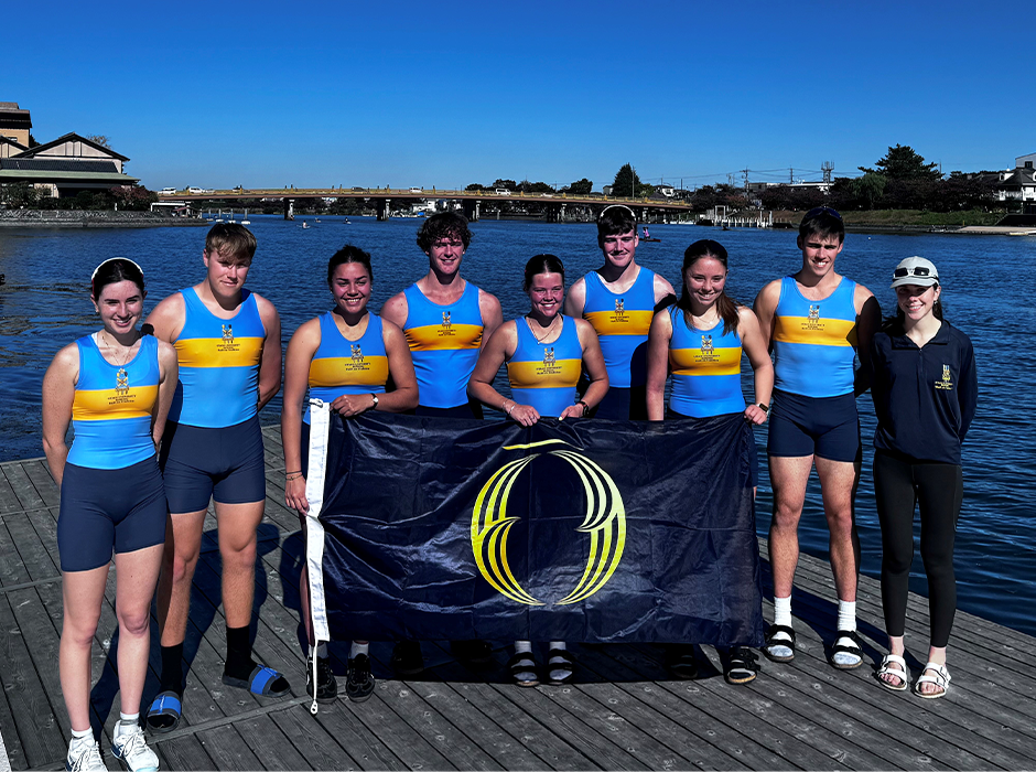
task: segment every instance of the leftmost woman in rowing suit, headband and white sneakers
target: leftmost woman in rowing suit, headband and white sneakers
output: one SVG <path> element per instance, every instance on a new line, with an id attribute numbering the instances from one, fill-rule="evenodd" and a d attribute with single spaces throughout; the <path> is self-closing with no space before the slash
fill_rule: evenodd
<path id="1" fill-rule="evenodd" d="M 66 770 L 106 769 L 90 727 L 90 648 L 112 550 L 120 719 L 111 750 L 132 772 L 159 768 L 140 727 L 140 697 L 165 543 L 155 447 L 176 388 L 176 352 L 137 329 L 145 297 L 140 266 L 123 257 L 101 262 L 90 279 L 101 329 L 57 352 L 43 377 L 43 449 L 61 491 L 57 668 L 72 729 Z"/>

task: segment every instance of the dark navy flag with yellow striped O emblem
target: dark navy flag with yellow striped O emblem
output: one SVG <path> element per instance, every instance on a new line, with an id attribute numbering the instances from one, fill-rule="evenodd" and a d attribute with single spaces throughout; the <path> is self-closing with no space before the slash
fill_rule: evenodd
<path id="1" fill-rule="evenodd" d="M 762 643 L 741 415 L 524 428 L 324 407 L 312 438 L 321 640 Z"/>

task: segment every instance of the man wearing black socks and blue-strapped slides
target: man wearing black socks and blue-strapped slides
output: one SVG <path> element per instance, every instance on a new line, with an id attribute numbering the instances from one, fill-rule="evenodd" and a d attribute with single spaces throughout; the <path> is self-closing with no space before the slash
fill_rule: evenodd
<path id="1" fill-rule="evenodd" d="M 180 386 L 162 442 L 169 548 L 159 581 L 162 673 L 148 723 L 170 731 L 182 714 L 183 642 L 205 511 L 215 503 L 227 656 L 223 683 L 253 694 L 289 694 L 284 677 L 251 658 L 256 529 L 266 503 L 259 409 L 281 386 L 281 322 L 267 299 L 245 289 L 256 237 L 242 225 L 213 226 L 205 278 L 165 298 L 148 318 L 180 358 Z"/>

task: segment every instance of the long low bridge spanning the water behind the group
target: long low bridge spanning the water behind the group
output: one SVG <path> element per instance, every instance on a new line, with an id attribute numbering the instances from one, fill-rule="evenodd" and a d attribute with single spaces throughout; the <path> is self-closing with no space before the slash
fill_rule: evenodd
<path id="1" fill-rule="evenodd" d="M 241 199 L 279 199 L 283 203 L 284 218 L 294 215 L 294 202 L 305 199 L 363 199 L 373 202 L 378 219 L 388 219 L 393 201 L 460 201 L 464 214 L 471 222 L 477 222 L 482 206 L 487 203 L 520 202 L 543 206 L 548 222 L 564 222 L 572 206 L 592 206 L 604 208 L 611 204 L 624 204 L 632 208 L 637 219 L 644 222 L 648 212 L 688 213 L 691 207 L 687 202 L 668 199 L 627 199 L 601 194 L 572 195 L 570 193 L 522 193 L 499 190 L 451 191 L 432 187 L 324 187 L 324 189 L 244 189 L 191 192 L 190 189 L 176 193 L 159 194 L 162 202 L 233 202 Z"/>

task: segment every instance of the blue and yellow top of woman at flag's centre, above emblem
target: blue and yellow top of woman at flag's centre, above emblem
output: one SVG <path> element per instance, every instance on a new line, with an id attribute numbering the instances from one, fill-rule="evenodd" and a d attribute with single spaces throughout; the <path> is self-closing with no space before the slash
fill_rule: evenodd
<path id="1" fill-rule="evenodd" d="M 540 343 L 522 317 L 515 320 L 518 346 L 507 363 L 511 398 L 531 405 L 544 417 L 557 418 L 576 400 L 575 385 L 583 364 L 575 320 L 561 317 L 561 334 Z"/>

